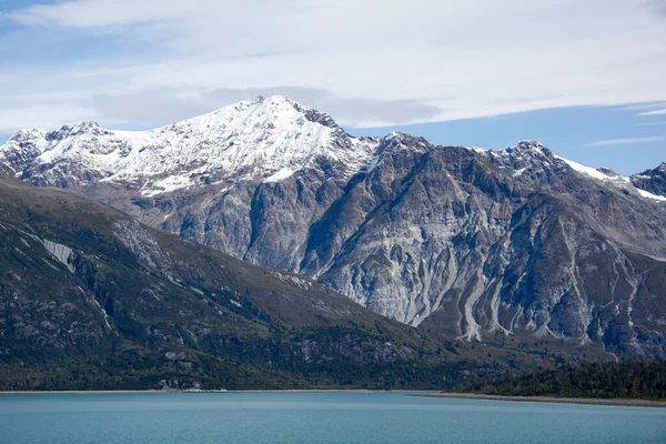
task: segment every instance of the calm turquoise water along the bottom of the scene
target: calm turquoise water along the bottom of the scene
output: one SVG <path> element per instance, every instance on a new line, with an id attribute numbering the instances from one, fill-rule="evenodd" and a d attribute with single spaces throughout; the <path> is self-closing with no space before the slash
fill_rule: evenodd
<path id="1" fill-rule="evenodd" d="M 666 408 L 400 393 L 0 396 L 1 443 L 666 443 Z"/>

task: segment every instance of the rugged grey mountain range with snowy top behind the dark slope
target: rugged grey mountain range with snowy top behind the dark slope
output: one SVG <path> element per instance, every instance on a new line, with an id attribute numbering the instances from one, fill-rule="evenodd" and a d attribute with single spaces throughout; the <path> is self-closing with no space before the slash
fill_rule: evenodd
<path id="1" fill-rule="evenodd" d="M 23 132 L 0 152 L 23 180 L 79 189 L 403 323 L 664 355 L 666 198 L 646 173 L 588 169 L 538 142 L 354 139 L 283 98 L 215 115 L 131 135 Z"/>

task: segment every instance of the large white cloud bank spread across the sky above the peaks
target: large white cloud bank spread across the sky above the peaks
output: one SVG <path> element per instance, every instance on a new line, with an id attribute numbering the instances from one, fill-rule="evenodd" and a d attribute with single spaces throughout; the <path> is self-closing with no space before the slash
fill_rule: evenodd
<path id="1" fill-rule="evenodd" d="M 4 61 L 0 82 L 13 107 L 58 91 L 102 123 L 129 101 L 128 118 L 167 123 L 224 104 L 213 91 L 293 84 L 351 125 L 654 102 L 666 100 L 666 27 L 654 11 L 644 0 L 75 0 L 4 16 L 128 44 L 139 36 L 150 54 L 104 60 L 102 48 L 46 64 L 48 75 Z"/>

